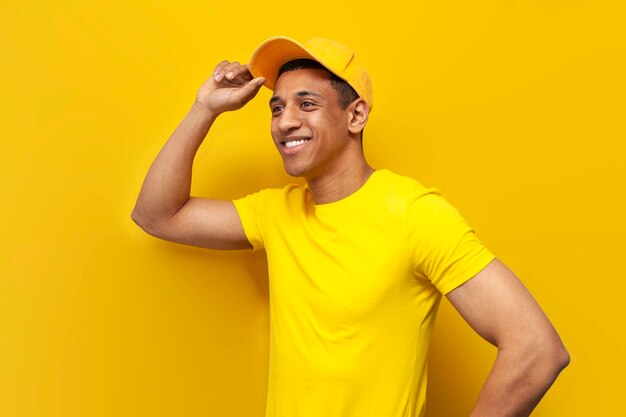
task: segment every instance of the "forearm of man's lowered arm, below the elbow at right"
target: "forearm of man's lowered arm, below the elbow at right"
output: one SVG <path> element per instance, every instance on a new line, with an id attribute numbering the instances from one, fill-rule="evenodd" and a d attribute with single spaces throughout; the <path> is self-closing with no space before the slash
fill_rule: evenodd
<path id="1" fill-rule="evenodd" d="M 569 363 L 564 348 L 501 349 L 470 417 L 526 417 Z"/>

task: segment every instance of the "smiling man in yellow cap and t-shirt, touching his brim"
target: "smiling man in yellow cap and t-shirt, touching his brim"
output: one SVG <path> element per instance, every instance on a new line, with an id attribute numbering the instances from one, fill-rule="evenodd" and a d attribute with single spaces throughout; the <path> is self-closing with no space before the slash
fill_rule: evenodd
<path id="1" fill-rule="evenodd" d="M 234 202 L 190 197 L 193 159 L 212 123 L 263 84 L 274 91 L 274 143 L 306 186 Z M 372 106 L 369 76 L 351 50 L 272 38 L 249 67 L 217 65 L 148 171 L 132 218 L 175 242 L 266 250 L 267 417 L 422 416 L 442 294 L 498 347 L 471 416 L 529 415 L 567 351 L 437 189 L 367 164 L 361 140 Z"/>

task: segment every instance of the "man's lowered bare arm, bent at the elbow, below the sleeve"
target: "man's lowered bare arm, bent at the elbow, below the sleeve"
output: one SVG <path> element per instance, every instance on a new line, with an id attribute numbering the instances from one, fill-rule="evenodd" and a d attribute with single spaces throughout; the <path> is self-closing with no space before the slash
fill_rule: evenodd
<path id="1" fill-rule="evenodd" d="M 569 363 L 556 330 L 515 274 L 494 259 L 447 294 L 470 326 L 498 348 L 470 417 L 525 417 Z"/>

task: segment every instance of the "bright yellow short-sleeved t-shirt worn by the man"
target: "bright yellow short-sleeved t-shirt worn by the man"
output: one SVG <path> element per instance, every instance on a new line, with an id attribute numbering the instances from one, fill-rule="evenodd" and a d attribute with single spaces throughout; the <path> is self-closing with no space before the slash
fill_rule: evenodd
<path id="1" fill-rule="evenodd" d="M 417 417 L 441 295 L 494 255 L 436 188 L 375 171 L 348 197 L 235 200 L 270 278 L 266 417 Z"/>

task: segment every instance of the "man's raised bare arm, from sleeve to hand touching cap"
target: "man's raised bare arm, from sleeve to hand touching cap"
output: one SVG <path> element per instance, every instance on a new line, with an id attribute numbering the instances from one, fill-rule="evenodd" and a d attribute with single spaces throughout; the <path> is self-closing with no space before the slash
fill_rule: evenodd
<path id="1" fill-rule="evenodd" d="M 251 245 L 232 201 L 190 197 L 198 148 L 223 112 L 238 110 L 265 82 L 247 66 L 222 61 L 200 87 L 196 100 L 152 163 L 131 214 L 143 230 L 161 239 L 210 249 Z"/>

